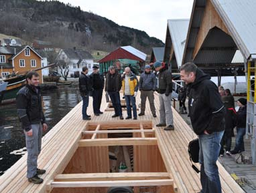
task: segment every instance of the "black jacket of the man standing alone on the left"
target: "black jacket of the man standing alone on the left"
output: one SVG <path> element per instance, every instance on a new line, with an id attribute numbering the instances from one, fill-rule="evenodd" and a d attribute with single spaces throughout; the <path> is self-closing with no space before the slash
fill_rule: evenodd
<path id="1" fill-rule="evenodd" d="M 40 87 L 31 85 L 22 87 L 16 96 L 16 106 L 23 130 L 29 131 L 31 124 L 45 123 Z"/>

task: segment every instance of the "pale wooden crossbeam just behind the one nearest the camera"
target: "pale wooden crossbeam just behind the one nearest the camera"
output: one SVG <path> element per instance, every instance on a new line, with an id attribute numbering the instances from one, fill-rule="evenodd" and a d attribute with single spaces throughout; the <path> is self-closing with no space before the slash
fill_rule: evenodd
<path id="1" fill-rule="evenodd" d="M 104 180 L 160 180 L 170 179 L 167 172 L 125 172 L 125 173 L 90 173 L 90 174 L 58 174 L 55 182 L 72 181 L 104 181 Z"/>

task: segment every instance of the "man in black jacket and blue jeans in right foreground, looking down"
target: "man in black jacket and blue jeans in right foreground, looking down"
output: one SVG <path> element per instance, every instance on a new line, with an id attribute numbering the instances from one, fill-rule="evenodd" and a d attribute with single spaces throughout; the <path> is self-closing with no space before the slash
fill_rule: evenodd
<path id="1" fill-rule="evenodd" d="M 225 107 L 218 87 L 210 81 L 210 75 L 206 75 L 190 62 L 182 65 L 180 78 L 190 87 L 188 108 L 192 128 L 199 139 L 201 193 L 221 193 L 216 160 L 225 130 Z"/>

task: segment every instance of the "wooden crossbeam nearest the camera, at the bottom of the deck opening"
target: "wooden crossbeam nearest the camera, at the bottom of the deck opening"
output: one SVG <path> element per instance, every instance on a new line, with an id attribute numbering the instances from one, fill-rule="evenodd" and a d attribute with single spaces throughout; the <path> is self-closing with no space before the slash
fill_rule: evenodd
<path id="1" fill-rule="evenodd" d="M 112 187 L 112 186 L 169 186 L 174 184 L 172 179 L 164 180 L 118 180 L 118 181 L 79 181 L 52 182 L 52 188 L 82 188 L 82 187 Z"/>

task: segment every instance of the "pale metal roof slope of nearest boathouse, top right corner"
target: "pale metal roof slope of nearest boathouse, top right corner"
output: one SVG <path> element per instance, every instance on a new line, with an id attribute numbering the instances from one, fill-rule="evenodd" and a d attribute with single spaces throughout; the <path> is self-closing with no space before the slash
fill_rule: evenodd
<path id="1" fill-rule="evenodd" d="M 242 55 L 256 55 L 255 0 L 211 0 Z"/>

